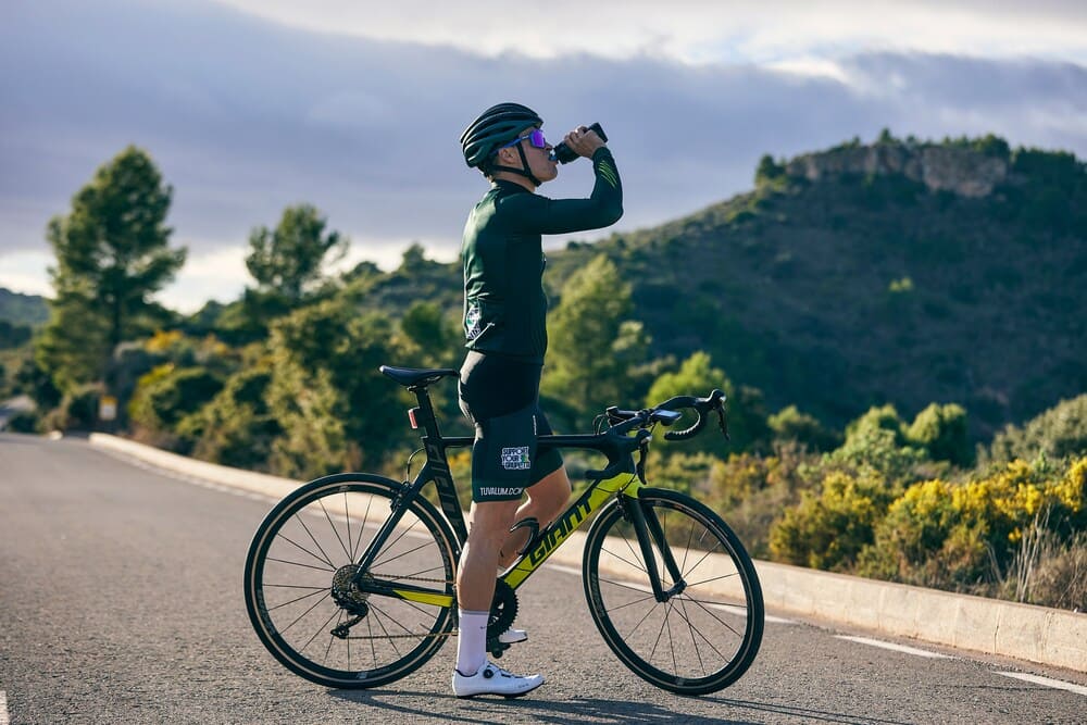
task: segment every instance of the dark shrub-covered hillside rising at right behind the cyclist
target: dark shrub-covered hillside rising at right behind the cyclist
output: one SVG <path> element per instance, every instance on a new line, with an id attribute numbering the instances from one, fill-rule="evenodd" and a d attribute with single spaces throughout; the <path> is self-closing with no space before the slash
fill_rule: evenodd
<path id="1" fill-rule="evenodd" d="M 775 163 L 755 191 L 605 251 L 660 353 L 704 348 L 772 408 L 840 425 L 959 402 L 975 436 L 1087 390 L 1087 173 L 1000 139 L 885 137 Z"/>

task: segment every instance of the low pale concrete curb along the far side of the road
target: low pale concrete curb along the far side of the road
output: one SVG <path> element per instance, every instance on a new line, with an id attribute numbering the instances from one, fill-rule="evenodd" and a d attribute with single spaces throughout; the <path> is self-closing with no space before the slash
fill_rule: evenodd
<path id="1" fill-rule="evenodd" d="M 300 483 L 195 461 L 105 434 L 90 442 L 151 465 L 283 498 Z M 580 566 L 585 534 L 552 560 Z M 766 608 L 828 624 L 1087 672 L 1087 614 L 758 561 Z"/>

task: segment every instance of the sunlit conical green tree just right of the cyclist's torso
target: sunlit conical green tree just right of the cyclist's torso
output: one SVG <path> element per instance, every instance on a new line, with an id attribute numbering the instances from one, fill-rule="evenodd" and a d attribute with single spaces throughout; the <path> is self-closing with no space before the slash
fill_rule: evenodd
<path id="1" fill-rule="evenodd" d="M 630 286 L 605 255 L 575 272 L 548 325 L 542 391 L 582 414 L 629 400 L 627 373 L 649 345 L 641 323 L 627 318 L 632 310 Z"/>

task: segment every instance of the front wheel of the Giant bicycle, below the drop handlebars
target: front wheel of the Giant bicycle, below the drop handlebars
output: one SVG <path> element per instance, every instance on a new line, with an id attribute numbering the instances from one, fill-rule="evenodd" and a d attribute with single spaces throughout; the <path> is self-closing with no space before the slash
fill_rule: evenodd
<path id="1" fill-rule="evenodd" d="M 625 507 L 660 521 L 685 587 L 665 602 L 652 591 Z M 696 546 L 697 545 L 697 546 Z M 676 585 L 653 546 L 662 586 Z M 612 652 L 642 679 L 682 695 L 728 687 L 762 643 L 765 612 L 751 558 L 711 509 L 676 491 L 641 489 L 594 522 L 583 560 L 592 621 Z"/>

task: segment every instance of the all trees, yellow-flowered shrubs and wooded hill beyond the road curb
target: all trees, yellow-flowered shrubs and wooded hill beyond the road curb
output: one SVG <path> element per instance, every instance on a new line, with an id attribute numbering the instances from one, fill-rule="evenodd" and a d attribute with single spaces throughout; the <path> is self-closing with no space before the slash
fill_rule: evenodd
<path id="1" fill-rule="evenodd" d="M 754 182 L 549 253 L 554 427 L 722 388 L 730 441 L 661 441 L 651 483 L 708 502 L 753 555 L 1087 610 L 1085 165 L 885 132 L 764 157 Z M 402 476 L 411 400 L 377 367 L 459 366 L 459 264 L 416 245 L 397 270 L 330 274 L 350 240 L 298 204 L 253 228 L 239 299 L 183 315 L 153 301 L 185 262 L 172 195 L 124 149 L 48 226 L 54 296 L 0 289 L 0 399 L 35 403 L 9 429 Z M 433 392 L 445 432 L 468 434 L 453 384 Z"/>

